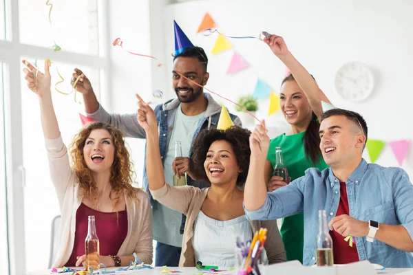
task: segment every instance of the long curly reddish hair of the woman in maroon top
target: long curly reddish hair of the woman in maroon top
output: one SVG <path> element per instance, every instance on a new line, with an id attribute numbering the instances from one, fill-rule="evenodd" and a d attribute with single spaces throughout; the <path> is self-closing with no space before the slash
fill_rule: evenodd
<path id="1" fill-rule="evenodd" d="M 85 147 L 87 137 L 89 137 L 90 133 L 96 129 L 104 129 L 108 131 L 112 136 L 115 146 L 114 162 L 112 164 L 109 179 L 112 186 L 110 195 L 112 195 L 112 192 L 119 194 L 120 191 L 124 191 L 129 197 L 136 197 L 136 188 L 132 186 L 136 174 L 134 172 L 134 164 L 129 159 L 129 151 L 125 146 L 125 136 L 114 126 L 101 122 L 94 122 L 85 126 L 73 137 L 70 146 L 70 155 L 72 156 L 73 162 L 72 168 L 76 173 L 84 195 L 93 198 L 98 191 L 96 182 L 92 177 L 92 171 L 87 167 L 85 156 L 83 155 L 83 148 Z"/>

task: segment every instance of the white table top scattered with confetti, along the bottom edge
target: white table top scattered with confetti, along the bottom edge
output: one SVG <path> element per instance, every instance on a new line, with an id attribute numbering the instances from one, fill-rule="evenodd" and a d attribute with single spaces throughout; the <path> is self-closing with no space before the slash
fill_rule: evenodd
<path id="1" fill-rule="evenodd" d="M 107 271 L 109 270 L 117 270 L 118 267 L 111 267 L 108 268 Z M 154 267 L 152 270 L 134 270 L 134 271 L 129 271 L 129 272 L 119 272 L 116 274 L 142 274 L 142 275 L 154 275 L 154 274 L 160 274 L 160 271 L 162 270 L 162 267 Z M 189 275 L 198 275 L 201 272 L 197 270 L 195 267 L 168 267 L 169 271 L 180 271 L 181 273 L 176 273 L 176 274 L 189 274 Z M 215 275 L 229 275 L 229 274 L 236 274 L 234 271 L 230 271 L 229 268 L 224 268 L 222 269 L 222 272 L 214 272 L 213 274 Z M 403 274 L 405 272 L 408 272 L 408 274 L 413 274 L 413 269 L 410 268 L 388 268 L 386 270 L 378 270 L 377 274 Z M 411 273 L 410 273 L 411 272 Z M 50 270 L 39 270 L 36 272 L 29 272 L 28 275 L 45 275 L 45 274 L 55 274 L 57 273 L 52 273 Z M 61 274 L 68 274 L 72 275 L 72 273 L 61 273 Z M 407 275 L 407 274 L 406 274 Z"/>

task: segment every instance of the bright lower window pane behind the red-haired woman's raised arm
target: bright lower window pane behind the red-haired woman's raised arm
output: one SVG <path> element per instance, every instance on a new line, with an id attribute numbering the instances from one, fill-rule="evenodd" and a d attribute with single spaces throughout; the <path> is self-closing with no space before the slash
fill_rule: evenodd
<path id="1" fill-rule="evenodd" d="M 24 58 L 26 59 L 26 58 Z M 28 58 L 28 60 L 33 60 Z M 39 68 L 43 68 L 43 60 L 38 61 Z M 23 64 L 21 65 L 23 68 Z M 58 89 L 70 93 L 70 76 L 72 64 L 57 64 L 59 73 L 64 76 L 65 83 L 58 85 Z M 99 71 L 90 67 L 82 67 L 83 73 L 92 80 L 96 92 L 99 89 Z M 82 95 L 77 93 L 76 102 L 74 92 L 70 95 L 60 94 L 54 88 L 60 80 L 56 65 L 50 67 L 52 75 L 52 99 L 57 120 L 66 146 L 70 146 L 72 136 L 81 129 L 82 124 L 79 112 L 83 105 L 78 101 Z M 44 137 L 41 132 L 39 104 L 36 94 L 26 87 L 21 77 L 21 109 L 23 122 L 23 166 L 25 167 L 24 188 L 24 223 L 25 223 L 25 267 L 26 270 L 44 270 L 47 268 L 50 257 L 50 236 L 52 235 L 52 220 L 60 214 L 56 192 L 49 175 L 47 154 L 44 146 Z M 96 93 L 99 98 L 99 94 Z"/>

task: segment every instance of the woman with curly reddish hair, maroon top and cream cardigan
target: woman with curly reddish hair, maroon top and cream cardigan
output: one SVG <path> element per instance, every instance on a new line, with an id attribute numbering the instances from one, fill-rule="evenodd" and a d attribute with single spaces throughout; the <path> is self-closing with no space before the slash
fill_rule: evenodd
<path id="1" fill-rule="evenodd" d="M 45 74 L 30 65 L 23 69 L 28 87 L 39 97 L 41 122 L 50 175 L 61 208 L 59 252 L 53 267 L 85 265 L 88 216 L 94 216 L 100 256 L 89 259 L 107 267 L 129 265 L 133 253 L 152 262 L 152 215 L 145 192 L 134 188 L 134 169 L 123 133 L 112 126 L 85 126 L 71 146 L 72 168 L 59 131 L 50 91 L 49 64 Z"/>

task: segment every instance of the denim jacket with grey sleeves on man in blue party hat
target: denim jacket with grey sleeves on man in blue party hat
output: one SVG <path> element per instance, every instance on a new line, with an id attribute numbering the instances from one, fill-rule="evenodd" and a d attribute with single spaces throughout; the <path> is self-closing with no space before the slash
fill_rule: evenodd
<path id="1" fill-rule="evenodd" d="M 198 129 L 196 129 L 193 134 L 193 139 L 198 135 L 202 129 L 216 128 L 218 120 L 220 118 L 221 106 L 216 102 L 210 94 L 204 93 L 205 98 L 208 101 L 207 110 L 205 111 L 205 116 L 200 122 Z M 159 104 L 155 107 L 156 120 L 158 121 L 159 128 L 159 148 L 160 148 L 160 157 L 163 158 L 167 154 L 167 146 L 169 146 L 169 140 L 171 139 L 171 133 L 173 129 L 173 122 L 175 122 L 176 110 L 180 102 L 178 98 L 169 100 L 164 104 Z M 99 105 L 99 108 L 94 113 L 87 113 L 89 118 L 97 122 L 104 122 L 116 126 L 117 129 L 123 131 L 127 137 L 136 137 L 136 138 L 146 138 L 145 130 L 138 124 L 136 120 L 137 113 L 120 115 L 116 113 L 109 114 L 102 105 Z M 229 114 L 231 120 L 233 120 L 234 125 L 242 126 L 240 118 L 236 115 Z M 189 152 L 191 156 L 191 152 Z M 172 168 L 171 168 L 172 169 Z M 195 186 L 198 188 L 209 187 L 208 184 L 203 181 L 195 181 L 191 177 L 187 177 L 187 184 L 190 186 Z M 143 188 L 149 193 L 152 207 L 155 208 L 157 201 L 154 201 L 149 192 L 149 184 L 146 173 L 146 148 L 145 148 L 145 164 L 143 167 Z M 181 234 L 184 232 L 185 217 L 182 217 L 182 225 L 180 228 Z M 155 225 L 156 226 L 156 225 Z"/>

